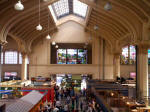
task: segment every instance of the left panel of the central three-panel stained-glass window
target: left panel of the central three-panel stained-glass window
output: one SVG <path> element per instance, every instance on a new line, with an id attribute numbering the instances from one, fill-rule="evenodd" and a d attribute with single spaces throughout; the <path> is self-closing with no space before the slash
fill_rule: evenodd
<path id="1" fill-rule="evenodd" d="M 57 50 L 57 64 L 66 64 L 66 49 Z"/>

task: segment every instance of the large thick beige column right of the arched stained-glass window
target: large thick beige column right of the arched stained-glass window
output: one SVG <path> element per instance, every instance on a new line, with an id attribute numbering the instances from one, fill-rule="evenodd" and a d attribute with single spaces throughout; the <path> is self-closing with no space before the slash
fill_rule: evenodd
<path id="1" fill-rule="evenodd" d="M 148 47 L 137 46 L 137 98 L 148 101 Z"/>

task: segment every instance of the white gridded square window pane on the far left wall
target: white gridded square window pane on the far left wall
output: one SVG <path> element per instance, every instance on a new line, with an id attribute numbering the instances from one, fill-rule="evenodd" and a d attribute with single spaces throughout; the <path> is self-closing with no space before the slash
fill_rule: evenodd
<path id="1" fill-rule="evenodd" d="M 17 51 L 6 51 L 5 52 L 5 64 L 17 64 Z"/>

